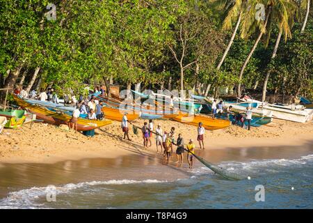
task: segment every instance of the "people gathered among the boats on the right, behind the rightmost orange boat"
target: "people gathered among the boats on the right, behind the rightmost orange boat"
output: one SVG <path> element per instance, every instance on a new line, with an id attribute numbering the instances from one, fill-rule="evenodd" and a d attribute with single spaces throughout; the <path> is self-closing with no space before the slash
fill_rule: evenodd
<path id="1" fill-rule="evenodd" d="M 225 114 L 226 118 L 230 118 L 230 115 L 233 115 L 235 119 L 234 125 L 236 125 L 236 123 L 241 123 L 242 128 L 247 121 L 248 130 L 250 130 L 252 120 L 251 107 L 246 108 L 246 113 L 234 114 L 234 112 L 232 112 L 232 105 L 230 105 L 229 107 L 225 107 L 223 100 L 220 100 L 220 102 L 216 103 L 216 100 L 214 99 L 214 101 L 212 102 L 212 118 L 220 118 L 221 116 L 223 116 L 223 114 Z"/>

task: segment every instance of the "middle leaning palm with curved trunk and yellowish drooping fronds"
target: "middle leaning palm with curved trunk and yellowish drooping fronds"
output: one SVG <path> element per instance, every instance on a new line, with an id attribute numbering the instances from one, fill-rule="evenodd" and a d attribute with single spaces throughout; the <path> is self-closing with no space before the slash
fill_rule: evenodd
<path id="1" fill-rule="evenodd" d="M 250 53 L 248 54 L 246 61 L 243 63 L 239 73 L 239 84 L 237 87 L 237 95 L 241 96 L 241 79 L 243 77 L 243 72 L 250 61 L 252 54 L 255 52 L 259 41 L 261 40 L 264 33 L 270 33 L 271 30 L 270 24 L 278 24 L 278 20 L 280 20 L 280 24 L 282 24 L 282 32 L 285 35 L 285 38 L 291 36 L 289 24 L 286 21 L 289 21 L 289 11 L 288 6 L 291 3 L 291 0 L 250 0 L 249 1 L 249 10 L 246 10 L 246 13 L 243 15 L 243 24 L 241 26 L 241 38 L 247 38 L 255 29 L 259 29 L 259 35 L 257 36 L 257 40 L 255 40 L 255 44 L 253 45 Z M 262 11 L 262 7 L 258 8 L 258 6 L 264 6 L 264 12 Z M 261 9 L 261 10 L 260 10 Z M 258 13 L 264 13 L 265 16 L 260 20 L 257 20 Z M 281 36 L 281 35 L 280 35 Z M 278 42 L 279 43 L 279 42 Z"/>

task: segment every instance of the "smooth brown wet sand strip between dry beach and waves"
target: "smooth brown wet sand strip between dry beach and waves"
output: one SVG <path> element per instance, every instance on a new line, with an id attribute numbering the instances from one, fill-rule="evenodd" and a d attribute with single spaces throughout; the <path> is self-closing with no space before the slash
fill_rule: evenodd
<path id="1" fill-rule="evenodd" d="M 313 153 L 313 141 L 303 146 L 225 148 L 197 151 L 209 162 L 263 159 L 296 159 Z M 54 164 L 1 164 L 0 198 L 8 192 L 47 185 L 90 182 L 93 180 L 176 180 L 193 175 L 187 168 L 186 153 L 184 164 L 167 164 L 161 155 L 122 155 L 118 158 L 88 158 L 67 160 Z M 198 161 L 195 168 L 202 167 Z"/>

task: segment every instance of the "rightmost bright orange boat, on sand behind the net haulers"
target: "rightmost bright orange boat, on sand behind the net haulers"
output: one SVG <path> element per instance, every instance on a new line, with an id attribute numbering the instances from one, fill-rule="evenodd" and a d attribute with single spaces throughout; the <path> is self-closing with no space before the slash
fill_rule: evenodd
<path id="1" fill-rule="evenodd" d="M 203 127 L 206 130 L 218 130 L 222 128 L 227 128 L 230 126 L 230 121 L 211 118 L 209 116 L 202 116 L 202 115 L 189 115 L 186 113 L 179 113 L 179 115 L 171 118 L 173 121 L 178 121 L 179 123 L 186 123 L 188 125 L 195 125 L 198 126 L 200 122 L 202 122 Z"/>

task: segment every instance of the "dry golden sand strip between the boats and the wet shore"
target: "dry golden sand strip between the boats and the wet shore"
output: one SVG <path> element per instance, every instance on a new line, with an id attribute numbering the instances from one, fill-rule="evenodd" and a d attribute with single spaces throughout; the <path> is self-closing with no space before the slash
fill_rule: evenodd
<path id="1" fill-rule="evenodd" d="M 156 120 L 154 126 L 158 123 L 161 124 L 163 131 L 168 131 L 174 126 L 176 137 L 178 133 L 182 133 L 185 143 L 188 139 L 197 137 L 195 126 L 168 120 Z M 134 121 L 134 124 L 142 126 L 143 121 Z M 122 133 L 120 123 L 115 121 L 111 125 L 97 129 L 93 138 L 45 123 L 34 123 L 31 129 L 29 125 L 24 125 L 17 130 L 5 129 L 0 134 L 0 162 L 54 163 L 92 157 L 115 158 L 129 154 L 157 154 L 154 140 L 152 147 L 147 150 L 143 148 L 141 132 L 135 135 L 131 130 L 129 132 L 131 142 L 123 140 Z M 206 131 L 204 144 L 207 150 L 256 146 L 301 146 L 311 143 L 312 136 L 312 122 L 303 124 L 275 119 L 272 123 L 252 128 L 251 131 L 234 125 L 223 130 Z"/>

